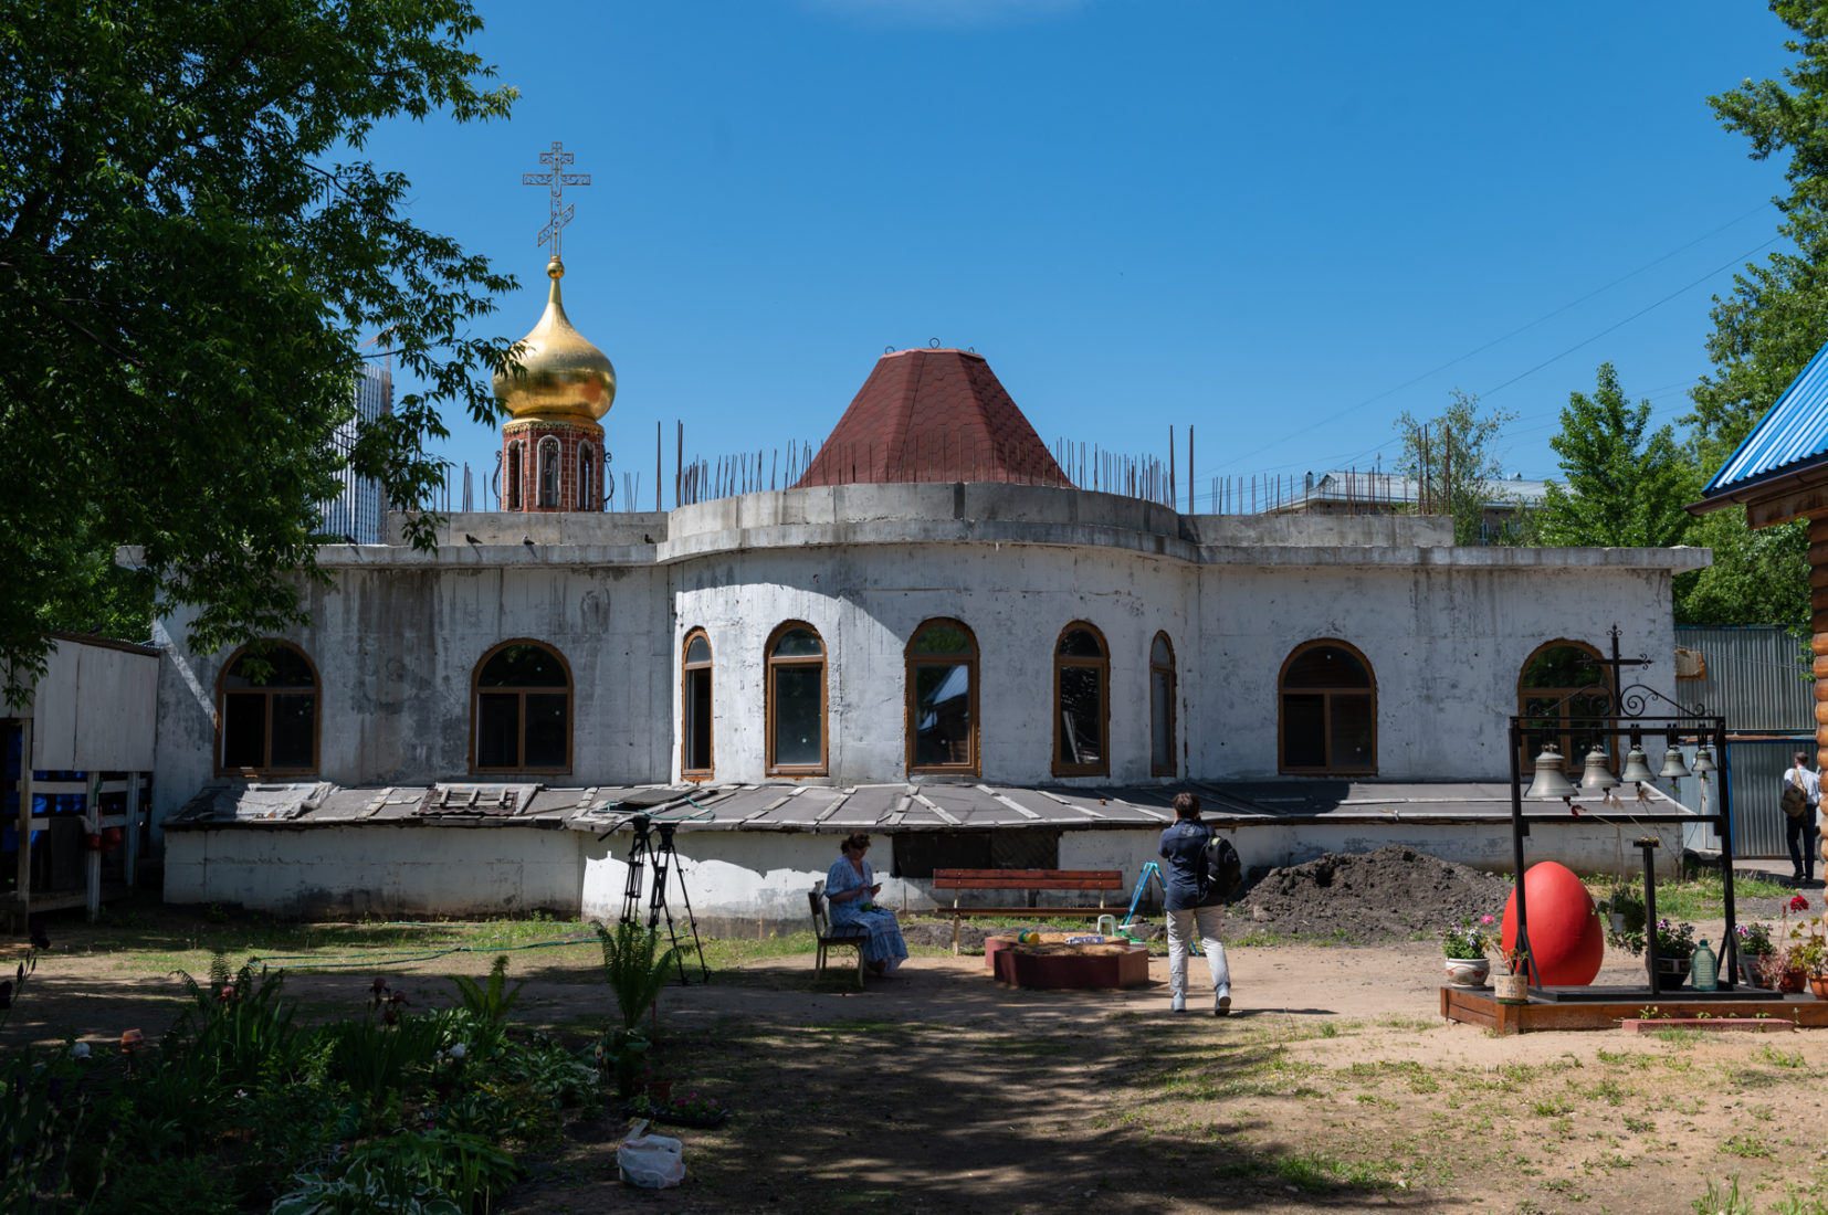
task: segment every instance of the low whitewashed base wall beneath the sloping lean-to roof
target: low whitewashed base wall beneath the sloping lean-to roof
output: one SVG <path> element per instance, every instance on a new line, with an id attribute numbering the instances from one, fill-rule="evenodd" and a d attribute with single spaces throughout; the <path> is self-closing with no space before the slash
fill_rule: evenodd
<path id="1" fill-rule="evenodd" d="M 1680 828 L 1662 828 L 1660 864 L 1682 855 Z M 1064 831 L 1060 868 L 1121 870 L 1124 890 L 1108 904 L 1122 912 L 1161 833 L 1150 829 Z M 837 861 L 837 835 L 779 831 L 682 831 L 671 910 L 684 921 L 691 903 L 706 935 L 801 932 L 806 892 Z M 879 839 L 887 840 L 887 835 Z M 166 835 L 165 901 L 223 903 L 276 915 L 495 915 L 547 910 L 614 921 L 627 886 L 627 833 L 598 840 L 590 831 L 468 826 L 227 828 Z M 1371 851 L 1408 844 L 1448 861 L 1510 872 L 1506 822 L 1453 826 L 1376 822 L 1243 826 L 1232 840 L 1247 868 L 1313 861 L 1327 851 Z M 883 855 L 888 855 L 885 846 Z M 1612 828 L 1570 822 L 1537 829 L 1526 857 L 1561 861 L 1578 872 L 1610 872 Z M 1671 870 L 1673 872 L 1673 870 Z M 645 875 L 651 879 L 651 873 Z M 881 903 L 905 912 L 949 906 L 927 881 L 877 872 Z M 678 882 L 684 882 L 684 895 Z M 647 906 L 643 884 L 642 908 Z M 998 904 L 996 892 L 967 893 L 965 904 Z M 1044 895 L 1044 904 L 1077 906 L 1079 895 Z M 1084 899 L 1097 903 L 1095 897 Z M 1159 892 L 1150 897 L 1159 906 Z"/>

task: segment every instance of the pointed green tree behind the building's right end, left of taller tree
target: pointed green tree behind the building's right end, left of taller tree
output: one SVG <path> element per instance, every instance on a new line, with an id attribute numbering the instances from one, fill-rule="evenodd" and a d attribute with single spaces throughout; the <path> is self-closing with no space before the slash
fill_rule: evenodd
<path id="1" fill-rule="evenodd" d="M 1567 484 L 1550 482 L 1537 517 L 1545 544 L 1662 548 L 1682 543 L 1695 475 L 1674 431 L 1651 431 L 1651 402 L 1632 406 L 1612 364 L 1592 396 L 1568 393 L 1561 433 L 1548 446 Z"/>

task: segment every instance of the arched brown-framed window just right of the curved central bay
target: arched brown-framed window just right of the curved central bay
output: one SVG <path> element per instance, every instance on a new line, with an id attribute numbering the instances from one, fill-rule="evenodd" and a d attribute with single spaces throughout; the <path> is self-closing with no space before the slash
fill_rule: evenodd
<path id="1" fill-rule="evenodd" d="M 1309 641 L 1281 665 L 1281 771 L 1376 775 L 1376 681 L 1344 641 Z"/>

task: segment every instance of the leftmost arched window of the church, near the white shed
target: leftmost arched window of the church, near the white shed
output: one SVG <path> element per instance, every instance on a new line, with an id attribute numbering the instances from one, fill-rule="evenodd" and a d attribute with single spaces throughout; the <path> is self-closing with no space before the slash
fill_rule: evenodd
<path id="1" fill-rule="evenodd" d="M 216 691 L 216 771 L 318 769 L 318 672 L 285 641 L 236 650 Z"/>

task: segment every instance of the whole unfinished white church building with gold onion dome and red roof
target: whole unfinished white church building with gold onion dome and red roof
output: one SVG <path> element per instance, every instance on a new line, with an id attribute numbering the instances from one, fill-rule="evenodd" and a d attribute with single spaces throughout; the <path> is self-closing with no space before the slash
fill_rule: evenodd
<path id="1" fill-rule="evenodd" d="M 949 864 L 1133 879 L 1181 787 L 1250 866 L 1389 842 L 1506 866 L 1508 716 L 1601 680 L 1614 625 L 1674 691 L 1671 576 L 1704 550 L 1088 491 L 969 351 L 885 354 L 788 490 L 605 513 L 614 371 L 548 272 L 497 382 L 505 510 L 437 552 L 324 548 L 265 683 L 161 623 L 170 901 L 607 915 L 647 808 L 693 815 L 700 926 L 768 932 L 856 829 L 896 906 Z M 1612 859 L 1612 828 L 1541 835 Z"/>

